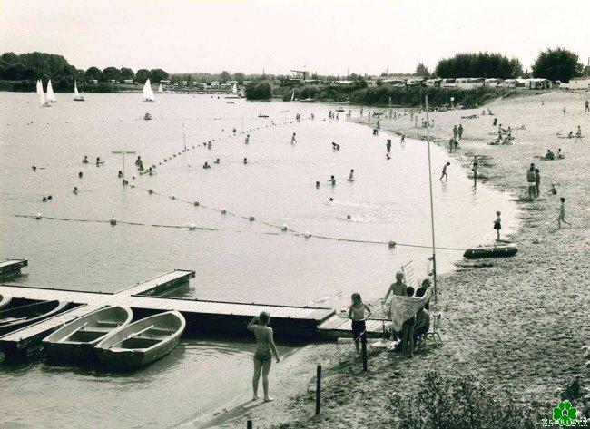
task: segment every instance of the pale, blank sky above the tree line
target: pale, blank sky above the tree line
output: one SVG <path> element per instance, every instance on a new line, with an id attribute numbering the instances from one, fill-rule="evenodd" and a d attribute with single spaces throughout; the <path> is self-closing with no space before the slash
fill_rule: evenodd
<path id="1" fill-rule="evenodd" d="M 0 0 L 0 53 L 84 70 L 411 73 L 478 51 L 530 69 L 556 46 L 588 61 L 590 0 Z"/>

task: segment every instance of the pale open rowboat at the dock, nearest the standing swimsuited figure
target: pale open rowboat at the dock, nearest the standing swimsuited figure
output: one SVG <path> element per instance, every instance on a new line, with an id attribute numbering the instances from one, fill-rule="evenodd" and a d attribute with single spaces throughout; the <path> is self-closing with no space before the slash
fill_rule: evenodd
<path id="1" fill-rule="evenodd" d="M 145 317 L 107 336 L 94 349 L 108 366 L 131 369 L 151 364 L 178 344 L 186 321 L 178 311 Z"/>

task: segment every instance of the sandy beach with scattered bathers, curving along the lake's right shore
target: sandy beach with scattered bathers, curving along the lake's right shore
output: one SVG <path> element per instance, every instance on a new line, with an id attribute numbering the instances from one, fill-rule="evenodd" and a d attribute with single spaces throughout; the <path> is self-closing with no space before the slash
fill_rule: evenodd
<path id="1" fill-rule="evenodd" d="M 431 113 L 431 137 L 438 144 L 447 146 L 453 125 L 462 124 L 465 130 L 448 180 L 470 174 L 477 156 L 480 180 L 509 192 L 518 202 L 520 229 L 513 237 L 503 237 L 518 246 L 516 257 L 457 260 L 457 270 L 439 278 L 434 308 L 443 315 L 443 346 L 421 349 L 414 359 L 369 351 L 366 373 L 352 346 L 313 346 L 300 360 L 298 376 L 292 378 L 298 382 L 277 385 L 281 371 L 295 370 L 282 364 L 273 367 L 271 388 L 277 401 L 244 409 L 238 419 L 220 415 L 215 425 L 243 427 L 251 418 L 254 427 L 395 427 L 389 396 L 415 393 L 423 376 L 433 369 L 444 375 L 474 375 L 487 389 L 508 387 L 523 403 L 539 403 L 537 411 L 547 418 L 558 403 L 558 392 L 576 376 L 582 385 L 590 385 L 590 364 L 582 349 L 590 342 L 590 113 L 584 112 L 588 97 L 588 93 L 561 91 L 523 94 L 487 105 L 494 116 L 482 116 L 483 107 Z M 478 117 L 462 118 L 474 114 Z M 512 127 L 514 144 L 487 145 L 495 140 L 495 118 L 503 128 Z M 366 119 L 356 121 L 367 123 Z M 407 138 L 426 136 L 426 129 L 415 128 L 409 115 L 382 119 L 380 124 L 382 130 L 404 133 Z M 524 129 L 518 129 L 522 125 Z M 556 136 L 575 133 L 578 125 L 585 135 L 582 142 Z M 367 132 L 368 139 L 383 146 L 385 155 L 385 138 Z M 558 148 L 565 152 L 565 159 L 536 158 Z M 542 178 L 540 198 L 532 202 L 526 199 L 525 184 L 531 162 Z M 433 166 L 434 180 L 441 169 Z M 549 192 L 552 183 L 556 195 Z M 557 230 L 560 197 L 565 197 L 565 219 L 572 226 Z M 489 218 L 491 242 L 495 213 L 489 213 Z M 324 366 L 325 376 L 321 413 L 314 416 L 314 389 L 305 386 L 312 382 L 318 363 Z"/>

